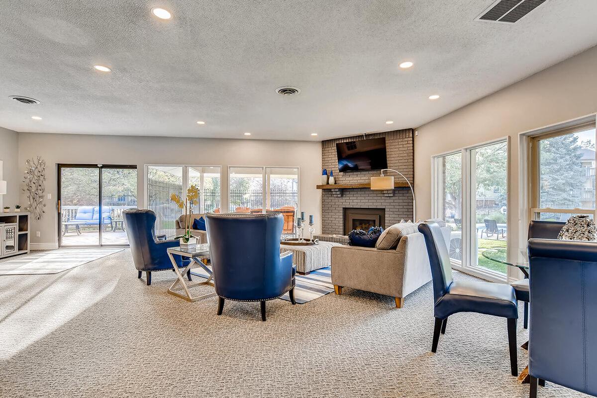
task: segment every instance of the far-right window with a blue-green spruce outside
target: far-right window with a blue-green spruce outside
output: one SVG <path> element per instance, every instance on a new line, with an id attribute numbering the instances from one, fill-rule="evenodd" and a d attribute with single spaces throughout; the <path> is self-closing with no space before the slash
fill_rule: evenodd
<path id="1" fill-rule="evenodd" d="M 595 214 L 595 124 L 531 139 L 531 217 L 566 221 Z"/>

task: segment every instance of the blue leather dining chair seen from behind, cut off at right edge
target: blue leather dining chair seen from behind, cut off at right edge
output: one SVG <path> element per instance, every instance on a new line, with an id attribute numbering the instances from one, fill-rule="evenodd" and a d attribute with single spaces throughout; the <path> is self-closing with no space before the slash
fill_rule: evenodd
<path id="1" fill-rule="evenodd" d="M 547 380 L 597 396 L 597 243 L 530 239 L 531 398 Z"/>

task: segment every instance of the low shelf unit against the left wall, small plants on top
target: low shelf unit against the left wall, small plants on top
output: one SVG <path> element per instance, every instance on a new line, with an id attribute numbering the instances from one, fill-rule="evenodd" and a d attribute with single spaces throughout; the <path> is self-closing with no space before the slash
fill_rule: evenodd
<path id="1" fill-rule="evenodd" d="M 29 254 L 29 212 L 0 213 L 0 258 Z"/>

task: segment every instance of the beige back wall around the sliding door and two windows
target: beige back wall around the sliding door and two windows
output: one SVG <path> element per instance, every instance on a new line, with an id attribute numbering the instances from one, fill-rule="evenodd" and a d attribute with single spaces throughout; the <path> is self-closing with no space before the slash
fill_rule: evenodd
<path id="1" fill-rule="evenodd" d="M 32 248 L 57 243 L 57 163 L 137 165 L 137 191 L 144 203 L 144 165 L 189 164 L 222 166 L 225 202 L 228 166 L 298 166 L 300 210 L 321 221 L 321 143 L 305 141 L 217 140 L 207 138 L 124 137 L 72 134 L 19 134 L 19 159 L 41 156 L 48 165 L 46 214 L 32 224 Z M 21 165 L 21 168 L 23 166 Z M 321 225 L 321 224 L 320 224 Z M 35 232 L 40 232 L 40 237 Z"/>

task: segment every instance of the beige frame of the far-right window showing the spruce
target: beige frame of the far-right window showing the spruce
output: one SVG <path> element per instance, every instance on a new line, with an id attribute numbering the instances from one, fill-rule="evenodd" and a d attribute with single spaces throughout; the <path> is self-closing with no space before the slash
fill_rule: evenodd
<path id="1" fill-rule="evenodd" d="M 596 137 L 595 143 L 597 144 L 597 123 L 595 119 L 592 121 L 580 122 L 576 125 L 572 125 L 565 128 L 556 128 L 552 131 L 542 132 L 540 134 L 534 134 L 528 136 L 528 159 L 529 159 L 529 178 L 530 178 L 530 192 L 529 192 L 529 218 L 531 220 L 540 220 L 541 213 L 564 213 L 564 214 L 591 214 L 594 218 L 597 218 L 597 195 L 595 198 L 595 208 L 574 208 L 574 209 L 561 209 L 561 208 L 541 208 L 540 207 L 540 152 L 539 144 L 542 140 L 547 140 L 553 137 L 561 137 L 562 135 L 574 134 L 575 132 L 586 131 L 588 129 L 595 129 Z M 597 159 L 596 159 L 597 161 Z M 597 186 L 597 173 L 595 175 L 595 183 Z"/>

